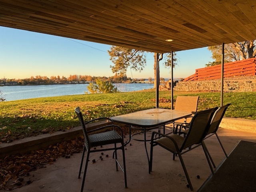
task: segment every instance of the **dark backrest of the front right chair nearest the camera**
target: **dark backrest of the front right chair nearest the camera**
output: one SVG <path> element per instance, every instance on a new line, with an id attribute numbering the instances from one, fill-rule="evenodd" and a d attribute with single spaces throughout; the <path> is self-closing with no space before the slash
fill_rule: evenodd
<path id="1" fill-rule="evenodd" d="M 217 109 L 218 107 L 200 111 L 194 115 L 190 122 L 188 133 L 182 147 L 180 148 L 180 151 L 188 148 L 189 146 L 200 144 L 202 142 L 210 127 L 212 116 Z"/>

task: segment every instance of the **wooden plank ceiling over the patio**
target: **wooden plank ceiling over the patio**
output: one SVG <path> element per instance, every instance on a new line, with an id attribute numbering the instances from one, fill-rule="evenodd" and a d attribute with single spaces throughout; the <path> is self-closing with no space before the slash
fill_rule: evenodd
<path id="1" fill-rule="evenodd" d="M 256 0 L 0 0 L 0 26 L 165 53 L 256 39 Z"/>

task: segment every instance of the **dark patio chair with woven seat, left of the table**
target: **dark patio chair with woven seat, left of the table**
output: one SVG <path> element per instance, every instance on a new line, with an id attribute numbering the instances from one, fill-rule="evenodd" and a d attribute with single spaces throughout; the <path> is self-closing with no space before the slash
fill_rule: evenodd
<path id="1" fill-rule="evenodd" d="M 106 117 L 96 118 L 96 119 L 90 120 L 88 122 L 84 122 L 84 119 L 82 117 L 82 113 L 81 113 L 79 107 L 77 107 L 75 109 L 75 112 L 79 118 L 80 124 L 82 126 L 82 130 L 84 132 L 84 150 L 83 150 L 83 154 L 82 154 L 82 160 L 81 160 L 78 178 L 80 178 L 80 174 L 81 174 L 81 170 L 82 170 L 82 165 L 83 165 L 83 161 L 84 161 L 84 153 L 87 150 L 81 192 L 84 189 L 84 181 L 85 181 L 85 177 L 86 177 L 86 170 L 87 170 L 87 166 L 88 166 L 88 160 L 89 160 L 90 153 L 106 151 L 106 150 L 114 150 L 114 155 L 115 155 L 115 159 L 116 159 L 116 171 L 118 171 L 118 166 L 120 166 L 121 170 L 124 172 L 124 186 L 125 186 L 125 188 L 127 188 L 126 165 L 125 165 L 125 156 L 124 156 L 124 136 L 123 136 L 122 128 L 118 125 L 115 125 L 114 122 L 110 118 L 106 118 Z M 102 120 L 106 120 L 106 121 L 110 122 L 111 124 L 108 124 L 105 126 L 100 126 L 93 130 L 86 129 L 88 124 L 91 124 L 93 122 L 102 121 Z M 115 129 L 119 130 L 121 135 L 118 134 L 118 132 L 116 132 Z M 110 144 L 114 144 L 114 147 L 110 147 Z M 116 144 L 118 144 L 120 146 L 117 146 Z M 94 148 L 96 146 L 105 146 L 105 145 L 108 145 L 107 146 L 108 148 L 101 148 L 101 149 Z M 94 150 L 91 150 L 91 148 L 94 148 Z M 123 168 L 117 160 L 117 150 L 118 149 L 122 150 Z"/>

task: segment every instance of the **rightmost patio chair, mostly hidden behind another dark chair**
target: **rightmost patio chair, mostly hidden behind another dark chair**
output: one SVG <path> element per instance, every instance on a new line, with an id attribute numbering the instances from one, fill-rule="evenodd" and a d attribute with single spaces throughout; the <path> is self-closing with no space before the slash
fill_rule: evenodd
<path id="1" fill-rule="evenodd" d="M 223 147 L 223 145 L 222 145 L 222 143 L 220 141 L 220 138 L 219 138 L 219 136 L 217 134 L 217 130 L 218 130 L 219 126 L 220 126 L 220 122 L 222 121 L 222 118 L 224 117 L 224 114 L 225 114 L 228 106 L 230 106 L 230 105 L 231 105 L 230 103 L 226 104 L 226 105 L 224 105 L 222 107 L 219 107 L 216 110 L 216 112 L 214 113 L 214 115 L 212 117 L 210 128 L 209 128 L 209 130 L 208 130 L 208 132 L 206 134 L 206 137 L 204 138 L 204 140 L 205 140 L 208 137 L 210 137 L 210 136 L 215 134 L 226 157 L 228 157 L 228 155 L 227 155 L 227 153 L 226 153 L 226 151 L 225 151 L 225 149 L 224 149 L 224 147 Z M 180 131 L 179 131 L 179 134 L 187 134 L 187 133 L 188 133 L 188 130 L 181 130 L 180 129 Z M 208 155 L 209 155 L 209 158 L 210 158 L 210 160 L 212 162 L 212 165 L 214 166 L 214 168 L 216 168 L 216 166 L 215 166 L 215 164 L 214 164 L 214 162 L 212 160 L 212 157 L 210 156 L 209 152 L 208 152 Z"/>

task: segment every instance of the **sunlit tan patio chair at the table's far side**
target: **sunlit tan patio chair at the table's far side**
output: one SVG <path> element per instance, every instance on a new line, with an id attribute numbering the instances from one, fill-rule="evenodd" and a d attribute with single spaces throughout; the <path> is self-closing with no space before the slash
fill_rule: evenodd
<path id="1" fill-rule="evenodd" d="M 188 118 L 183 118 L 183 119 L 176 120 L 175 122 L 173 122 L 174 134 L 176 134 L 176 132 L 174 130 L 174 126 L 176 124 L 187 124 L 188 125 L 190 123 L 190 120 L 192 119 L 192 117 L 194 116 L 194 114 L 197 111 L 198 100 L 199 100 L 199 96 L 177 96 L 174 110 L 192 112 L 192 116 L 188 117 L 189 120 L 188 120 Z"/>

